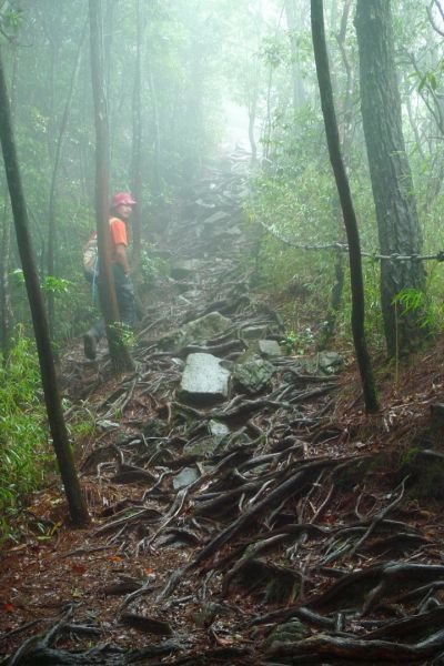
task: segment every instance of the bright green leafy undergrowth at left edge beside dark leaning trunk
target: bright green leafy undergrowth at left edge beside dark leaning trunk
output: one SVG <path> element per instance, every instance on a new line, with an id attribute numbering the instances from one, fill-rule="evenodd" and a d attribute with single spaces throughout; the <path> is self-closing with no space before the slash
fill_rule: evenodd
<path id="1" fill-rule="evenodd" d="M 13 536 L 13 517 L 27 493 L 43 483 L 51 456 L 32 343 L 19 332 L 8 357 L 0 360 L 1 545 Z"/>

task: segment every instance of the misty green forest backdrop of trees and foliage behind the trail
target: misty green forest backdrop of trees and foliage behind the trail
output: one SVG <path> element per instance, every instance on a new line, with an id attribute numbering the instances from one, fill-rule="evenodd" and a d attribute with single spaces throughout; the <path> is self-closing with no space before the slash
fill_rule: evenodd
<path id="1" fill-rule="evenodd" d="M 325 2 L 341 149 L 366 253 L 365 327 L 373 357 L 411 351 L 397 337 L 403 316 L 406 321 L 413 315 L 406 337 L 415 342 L 433 341 L 444 323 L 443 268 L 433 260 L 407 261 L 405 270 L 393 269 L 396 293 L 389 289 L 385 307 L 395 311 L 398 321 L 391 330 L 385 313 L 384 322 L 381 265 L 391 262 L 375 255 L 436 255 L 444 250 L 444 3 L 393 0 L 389 6 L 392 12 L 384 20 L 391 24 L 383 37 L 393 38 L 394 94 L 401 95 L 403 142 L 390 151 L 404 155 L 405 147 L 412 174 L 411 179 L 403 162 L 400 190 L 404 192 L 395 192 L 394 198 L 404 196 L 417 218 L 408 222 L 413 241 L 410 232 L 394 226 L 383 248 L 372 161 L 373 169 L 383 173 L 377 159 L 384 157 L 377 145 L 372 150 L 364 132 L 362 103 L 366 99 L 371 104 L 374 95 L 365 90 L 371 77 L 360 75 L 356 2 Z M 142 230 L 137 272 L 141 295 L 149 297 L 157 280 L 168 275 L 168 258 L 157 253 L 157 241 L 181 215 L 184 193 L 210 173 L 221 155 L 242 149 L 250 153 L 251 167 L 242 200 L 244 221 L 258 235 L 256 254 L 245 258 L 252 287 L 278 304 L 292 353 L 321 346 L 350 349 L 347 255 L 337 249 L 346 239 L 325 141 L 310 2 L 105 0 L 103 7 L 110 190 L 130 190 L 140 202 L 134 218 Z M 95 316 L 81 262 L 82 246 L 95 226 L 88 2 L 2 0 L 0 28 L 32 245 L 53 345 L 63 353 L 78 343 Z M 365 34 L 360 47 L 363 67 Z M 381 62 L 381 70 L 384 67 Z M 390 75 L 387 80 L 392 81 Z M 396 122 L 392 111 L 389 104 L 387 127 Z M 18 497 L 43 478 L 49 460 L 39 366 L 4 170 L 0 172 L 0 521 L 4 526 Z M 418 265 L 425 268 L 420 276 L 414 274 Z M 75 438 L 92 426 L 85 414 L 70 424 L 70 435 Z"/>

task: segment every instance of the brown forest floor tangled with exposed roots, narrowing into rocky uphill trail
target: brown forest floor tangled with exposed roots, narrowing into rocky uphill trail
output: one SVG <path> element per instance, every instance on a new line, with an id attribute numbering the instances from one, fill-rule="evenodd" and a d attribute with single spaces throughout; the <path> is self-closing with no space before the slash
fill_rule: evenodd
<path id="1" fill-rule="evenodd" d="M 284 330 L 250 289 L 243 168 L 164 231 L 135 372 L 63 360 L 69 417 L 97 425 L 77 452 L 91 524 L 71 528 L 57 478 L 29 498 L 1 554 L 1 664 L 444 664 L 444 342 L 380 363 L 374 416 L 350 350 L 264 363 L 258 337 Z M 224 359 L 230 397 L 179 390 L 191 353 Z"/>

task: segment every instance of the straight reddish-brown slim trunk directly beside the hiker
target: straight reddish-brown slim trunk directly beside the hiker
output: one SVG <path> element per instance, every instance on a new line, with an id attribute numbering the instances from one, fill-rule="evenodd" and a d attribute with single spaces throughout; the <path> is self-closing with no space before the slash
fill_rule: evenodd
<path id="1" fill-rule="evenodd" d="M 103 317 L 107 324 L 107 339 L 115 370 L 133 367 L 124 344 L 119 322 L 119 307 L 115 297 L 111 269 L 111 236 L 109 224 L 109 128 L 103 79 L 103 34 L 102 0 L 89 0 L 90 49 L 92 93 L 95 119 L 95 212 L 99 248 L 99 293 Z"/>

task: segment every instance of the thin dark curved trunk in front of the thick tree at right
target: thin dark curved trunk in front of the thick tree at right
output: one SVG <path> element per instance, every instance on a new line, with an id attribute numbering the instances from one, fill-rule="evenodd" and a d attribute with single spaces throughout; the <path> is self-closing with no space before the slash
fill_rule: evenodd
<path id="1" fill-rule="evenodd" d="M 364 330 L 364 284 L 362 279 L 361 244 L 356 215 L 350 193 L 349 180 L 341 155 L 340 135 L 334 111 L 332 81 L 330 78 L 329 57 L 325 43 L 323 0 L 311 0 L 312 36 L 316 72 L 321 93 L 322 112 L 329 144 L 330 160 L 336 180 L 344 224 L 349 241 L 350 276 L 352 289 L 352 332 L 356 351 L 357 365 L 361 373 L 365 410 L 377 411 L 377 400 L 373 381 Z"/>

